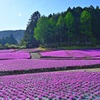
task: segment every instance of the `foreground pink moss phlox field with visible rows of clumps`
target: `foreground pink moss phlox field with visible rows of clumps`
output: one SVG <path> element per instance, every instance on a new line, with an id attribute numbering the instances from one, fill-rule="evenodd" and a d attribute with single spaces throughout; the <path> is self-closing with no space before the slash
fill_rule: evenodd
<path id="1" fill-rule="evenodd" d="M 100 100 L 100 72 L 0 76 L 0 100 Z"/>

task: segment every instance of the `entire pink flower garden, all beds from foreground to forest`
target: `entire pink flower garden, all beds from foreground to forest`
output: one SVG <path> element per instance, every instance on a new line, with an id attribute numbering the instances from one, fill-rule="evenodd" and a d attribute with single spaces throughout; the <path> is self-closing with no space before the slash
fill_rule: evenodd
<path id="1" fill-rule="evenodd" d="M 100 50 L 1 50 L 0 100 L 100 100 L 100 72 L 66 71 L 100 68 L 99 56 Z"/>

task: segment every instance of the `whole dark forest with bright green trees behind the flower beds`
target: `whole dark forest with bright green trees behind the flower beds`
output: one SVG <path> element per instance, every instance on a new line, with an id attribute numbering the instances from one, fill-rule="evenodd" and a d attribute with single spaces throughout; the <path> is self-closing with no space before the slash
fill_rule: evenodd
<path id="1" fill-rule="evenodd" d="M 100 8 L 74 7 L 67 11 L 41 16 L 34 12 L 29 19 L 21 45 L 27 48 L 100 45 Z"/>

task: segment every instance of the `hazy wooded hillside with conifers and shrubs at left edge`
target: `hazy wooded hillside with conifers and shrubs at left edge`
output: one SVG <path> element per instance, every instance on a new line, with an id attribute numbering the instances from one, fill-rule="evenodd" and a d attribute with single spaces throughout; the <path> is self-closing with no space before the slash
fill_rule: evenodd
<path id="1" fill-rule="evenodd" d="M 24 37 L 24 30 L 0 31 L 0 49 L 20 48 L 20 42 Z"/>

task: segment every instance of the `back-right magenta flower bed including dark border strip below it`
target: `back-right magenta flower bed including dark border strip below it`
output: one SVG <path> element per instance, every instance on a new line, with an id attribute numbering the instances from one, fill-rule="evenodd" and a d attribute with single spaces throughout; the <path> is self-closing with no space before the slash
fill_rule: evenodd
<path id="1" fill-rule="evenodd" d="M 100 59 L 100 50 L 57 50 L 40 54 L 41 58 Z"/>

